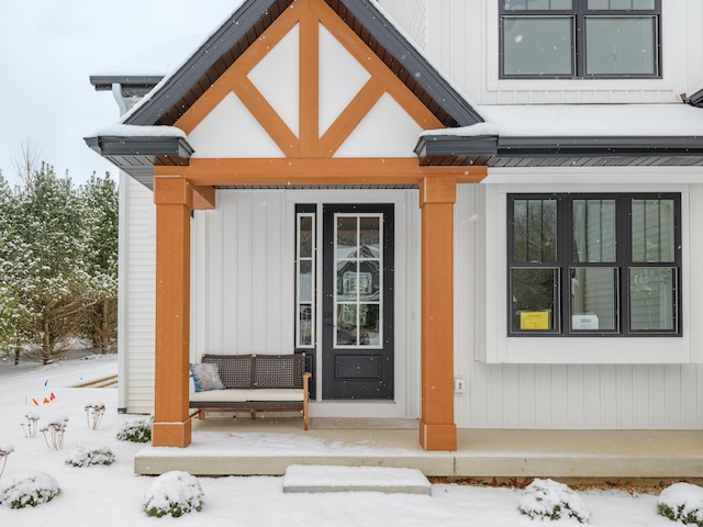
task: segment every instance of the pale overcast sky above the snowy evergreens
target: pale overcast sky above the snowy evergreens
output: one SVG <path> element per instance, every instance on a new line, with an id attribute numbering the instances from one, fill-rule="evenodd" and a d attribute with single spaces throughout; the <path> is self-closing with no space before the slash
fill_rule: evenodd
<path id="1" fill-rule="evenodd" d="M 0 171 L 11 182 L 31 145 L 58 176 L 85 182 L 116 168 L 83 137 L 115 123 L 91 75 L 163 75 L 178 67 L 242 0 L 2 0 Z M 130 67 L 133 65 L 133 68 Z"/>

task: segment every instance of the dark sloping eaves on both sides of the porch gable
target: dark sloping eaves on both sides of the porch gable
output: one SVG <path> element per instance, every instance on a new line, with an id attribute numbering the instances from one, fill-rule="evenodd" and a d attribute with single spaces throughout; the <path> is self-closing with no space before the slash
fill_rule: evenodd
<path id="1" fill-rule="evenodd" d="M 325 0 L 445 126 L 481 116 L 369 0 Z M 249 0 L 125 124 L 172 125 L 293 0 Z"/>

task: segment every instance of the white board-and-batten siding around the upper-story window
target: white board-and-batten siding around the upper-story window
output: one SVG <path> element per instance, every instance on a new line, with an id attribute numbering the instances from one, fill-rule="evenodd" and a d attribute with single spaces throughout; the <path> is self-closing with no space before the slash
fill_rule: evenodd
<path id="1" fill-rule="evenodd" d="M 499 0 L 432 0 L 426 51 L 476 104 L 676 103 L 703 87 L 703 2 L 661 4 L 661 79 L 499 79 Z"/>

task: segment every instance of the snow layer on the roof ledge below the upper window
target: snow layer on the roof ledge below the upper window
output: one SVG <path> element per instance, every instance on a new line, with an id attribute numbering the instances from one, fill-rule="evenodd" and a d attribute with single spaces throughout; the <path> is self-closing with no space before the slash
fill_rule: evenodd
<path id="1" fill-rule="evenodd" d="M 690 104 L 478 105 L 484 123 L 427 131 L 459 137 L 703 136 L 703 110 Z"/>

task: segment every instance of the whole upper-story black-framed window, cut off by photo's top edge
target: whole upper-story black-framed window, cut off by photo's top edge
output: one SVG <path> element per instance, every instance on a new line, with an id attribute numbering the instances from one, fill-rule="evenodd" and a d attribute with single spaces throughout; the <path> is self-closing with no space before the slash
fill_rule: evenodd
<path id="1" fill-rule="evenodd" d="M 501 78 L 659 78 L 661 0 L 499 0 Z"/>

